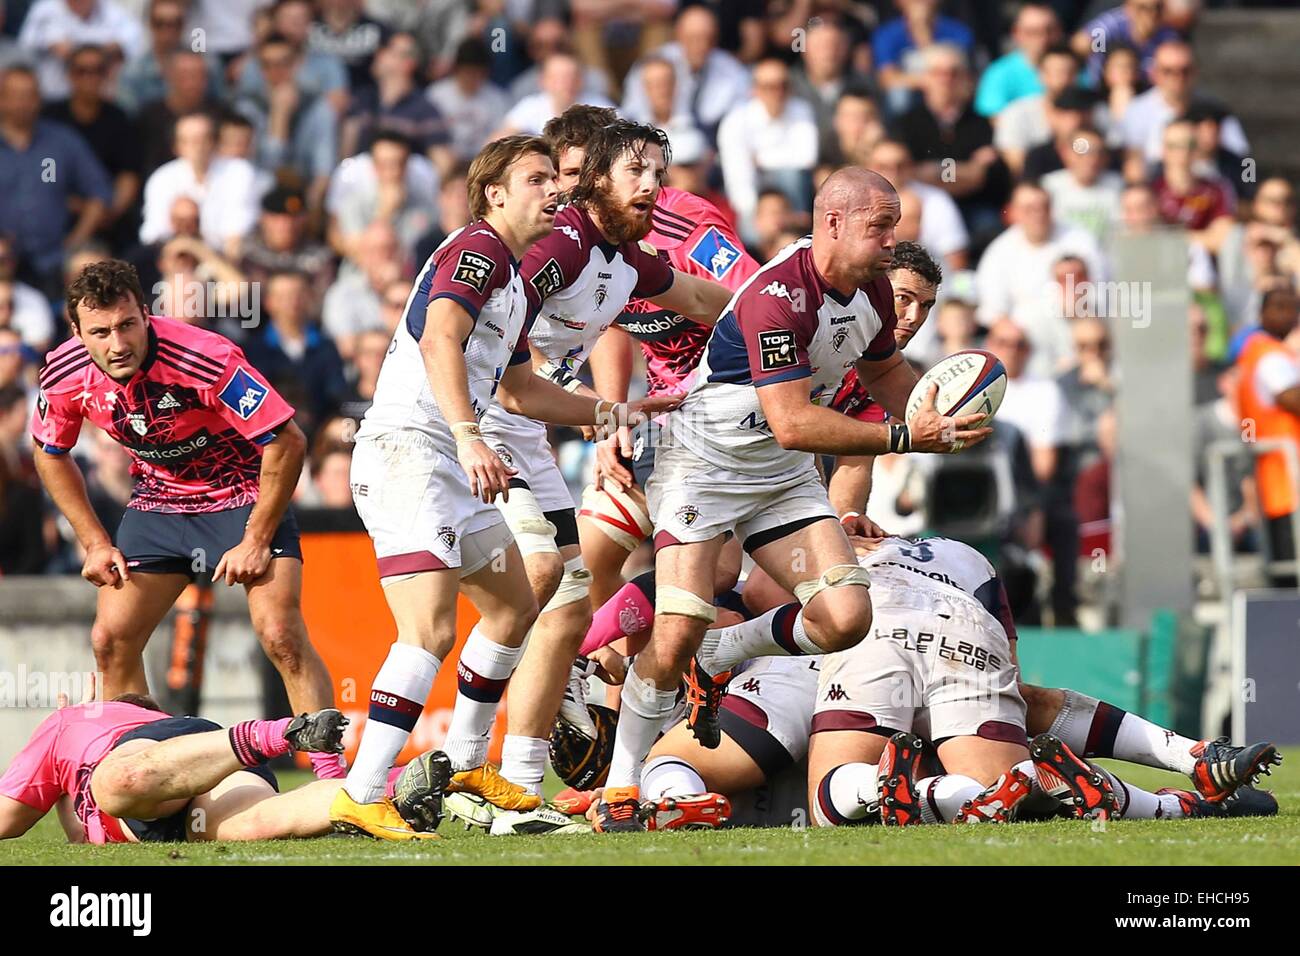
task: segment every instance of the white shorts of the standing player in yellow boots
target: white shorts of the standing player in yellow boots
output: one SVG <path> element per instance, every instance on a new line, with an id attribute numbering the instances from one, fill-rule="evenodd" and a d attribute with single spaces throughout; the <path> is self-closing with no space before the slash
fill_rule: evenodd
<path id="1" fill-rule="evenodd" d="M 464 540 L 504 529 L 500 512 L 469 493 L 460 462 L 417 432 L 358 438 L 350 481 L 356 512 L 374 540 L 380 578 L 443 568 L 473 574 L 490 555 L 481 549 L 462 555 Z"/>

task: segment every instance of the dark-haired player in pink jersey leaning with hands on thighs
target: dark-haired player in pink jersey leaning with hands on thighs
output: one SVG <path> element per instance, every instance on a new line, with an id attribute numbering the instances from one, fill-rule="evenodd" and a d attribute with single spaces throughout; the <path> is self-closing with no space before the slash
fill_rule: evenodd
<path id="1" fill-rule="evenodd" d="M 147 693 L 144 645 L 199 575 L 248 593 L 248 614 L 295 713 L 333 704 L 302 614 L 303 557 L 289 510 L 307 440 L 294 410 L 230 339 L 146 311 L 135 269 L 86 267 L 68 287 L 73 337 L 40 372 L 31 420 L 46 490 L 86 550 L 99 588 L 91 644 L 104 695 Z M 133 458 L 116 540 L 68 454 L 83 420 Z M 313 754 L 341 777 L 337 754 Z"/>

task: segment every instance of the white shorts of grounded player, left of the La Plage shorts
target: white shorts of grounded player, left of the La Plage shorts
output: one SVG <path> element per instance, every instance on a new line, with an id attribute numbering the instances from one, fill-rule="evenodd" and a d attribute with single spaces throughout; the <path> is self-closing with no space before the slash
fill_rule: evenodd
<path id="1" fill-rule="evenodd" d="M 772 779 L 809 752 L 820 657 L 758 657 L 723 697 L 723 732 Z"/>

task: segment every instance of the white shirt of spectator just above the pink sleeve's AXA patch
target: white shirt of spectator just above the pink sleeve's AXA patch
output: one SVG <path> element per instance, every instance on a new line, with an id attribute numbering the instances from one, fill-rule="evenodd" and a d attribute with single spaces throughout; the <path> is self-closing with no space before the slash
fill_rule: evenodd
<path id="1" fill-rule="evenodd" d="M 806 100 L 786 100 L 780 116 L 757 99 L 729 112 L 718 127 L 718 160 L 736 212 L 754 215 L 759 170 L 812 169 L 816 146 L 816 117 Z"/>

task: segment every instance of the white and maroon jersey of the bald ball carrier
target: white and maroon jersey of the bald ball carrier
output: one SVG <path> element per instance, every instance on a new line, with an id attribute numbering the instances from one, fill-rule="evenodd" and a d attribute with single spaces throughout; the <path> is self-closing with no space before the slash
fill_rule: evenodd
<path id="1" fill-rule="evenodd" d="M 664 441 L 744 475 L 811 468 L 810 453 L 783 449 L 772 437 L 758 389 L 807 378 L 811 401 L 827 406 L 858 359 L 893 355 L 894 323 L 887 277 L 841 295 L 814 267 L 812 238 L 792 242 L 727 304 L 686 399 L 666 419 Z"/>

